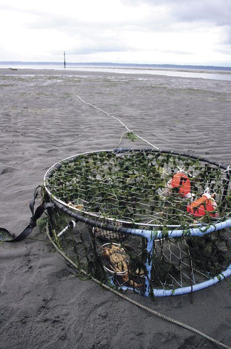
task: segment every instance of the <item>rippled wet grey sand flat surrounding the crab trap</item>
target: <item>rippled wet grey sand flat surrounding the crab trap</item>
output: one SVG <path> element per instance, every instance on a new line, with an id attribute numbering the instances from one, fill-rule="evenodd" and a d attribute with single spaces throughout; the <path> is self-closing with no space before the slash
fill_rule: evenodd
<path id="1" fill-rule="evenodd" d="M 114 149 L 125 128 L 159 149 L 231 163 L 231 82 L 161 75 L 0 69 L 0 226 L 18 235 L 46 170 Z M 120 146 L 147 147 L 122 139 Z M 190 295 L 133 298 L 231 346 L 231 280 Z M 0 246 L 0 349 L 215 349 L 219 346 L 81 281 L 35 228 Z"/>

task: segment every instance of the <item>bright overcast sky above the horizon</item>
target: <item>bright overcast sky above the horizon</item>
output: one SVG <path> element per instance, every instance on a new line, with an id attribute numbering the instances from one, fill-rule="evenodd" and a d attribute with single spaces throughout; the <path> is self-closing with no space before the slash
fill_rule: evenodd
<path id="1" fill-rule="evenodd" d="M 231 0 L 0 0 L 0 61 L 231 66 Z"/>

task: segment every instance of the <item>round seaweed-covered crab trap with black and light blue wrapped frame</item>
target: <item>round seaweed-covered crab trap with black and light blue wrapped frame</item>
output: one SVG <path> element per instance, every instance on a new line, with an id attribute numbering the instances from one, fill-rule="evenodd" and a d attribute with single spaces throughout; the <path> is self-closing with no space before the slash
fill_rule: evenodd
<path id="1" fill-rule="evenodd" d="M 113 287 L 179 295 L 231 275 L 230 169 L 217 162 L 153 149 L 86 152 L 53 165 L 44 187 L 56 244 Z"/>

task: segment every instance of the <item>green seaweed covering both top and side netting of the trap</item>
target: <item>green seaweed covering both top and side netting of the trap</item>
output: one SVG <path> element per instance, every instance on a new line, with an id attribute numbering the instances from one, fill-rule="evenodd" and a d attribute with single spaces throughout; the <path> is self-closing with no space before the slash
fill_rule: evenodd
<path id="1" fill-rule="evenodd" d="M 189 236 L 193 224 L 202 224 L 202 227 L 214 224 L 213 212 L 193 217 L 186 211 L 189 199 L 182 198 L 177 188 L 172 188 L 169 197 L 161 195 L 172 176 L 183 171 L 190 178 L 194 196 L 200 197 L 209 188 L 215 195 L 218 219 L 226 219 L 231 210 L 230 178 L 217 166 L 202 164 L 199 158 L 145 150 L 81 154 L 60 165 L 46 183 L 51 195 L 66 202 L 74 212 L 97 217 L 102 222 L 101 228 L 93 229 L 77 224 L 77 228 L 69 229 L 59 239 L 62 249 L 72 256 L 79 269 L 83 268 L 101 281 L 142 288 L 144 277 L 148 277 L 147 261 L 151 263 L 152 259 L 149 280 L 152 290 L 196 284 L 227 267 L 228 239 L 223 232 Z M 69 216 L 65 217 L 59 227 L 62 215 L 60 212 L 58 217 L 51 218 L 55 232 L 61 231 L 70 220 Z M 151 256 L 145 238 L 107 231 L 109 223 L 115 227 L 144 229 L 154 229 L 149 228 L 150 225 L 161 226 L 163 238 L 155 241 Z M 168 226 L 181 227 L 182 237 L 169 238 Z M 110 247 L 119 243 L 124 248 L 129 258 L 127 275 L 119 276 L 113 271 L 108 274 L 99 254 L 102 242 Z M 104 258 L 104 261 L 111 267 L 109 259 Z"/>

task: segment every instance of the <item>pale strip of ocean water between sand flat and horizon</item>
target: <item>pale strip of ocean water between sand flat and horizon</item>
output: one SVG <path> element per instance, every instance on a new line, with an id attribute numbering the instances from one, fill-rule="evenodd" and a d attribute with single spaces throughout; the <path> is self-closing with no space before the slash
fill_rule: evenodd
<path id="1" fill-rule="evenodd" d="M 200 78 L 210 80 L 225 80 L 231 81 L 231 68 L 225 70 L 224 67 L 217 67 L 214 70 L 210 70 L 210 67 L 197 68 L 185 68 L 178 66 L 177 68 L 161 67 L 156 68 L 154 66 L 147 67 L 147 65 L 129 66 L 123 64 L 83 64 L 83 63 L 67 63 L 66 68 L 61 63 L 32 63 L 32 62 L 0 62 L 0 68 L 13 68 L 13 69 L 58 69 L 65 71 L 94 71 L 94 72 L 108 72 L 108 73 L 121 73 L 121 74 L 151 74 L 151 75 L 164 75 L 172 77 L 184 77 L 184 78 Z M 215 67 L 211 67 L 215 68 Z"/>

